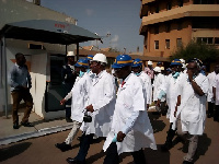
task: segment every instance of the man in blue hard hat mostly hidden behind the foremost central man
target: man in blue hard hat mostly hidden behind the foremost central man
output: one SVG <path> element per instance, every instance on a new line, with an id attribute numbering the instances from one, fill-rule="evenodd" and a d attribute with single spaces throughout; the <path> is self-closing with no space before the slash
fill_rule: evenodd
<path id="1" fill-rule="evenodd" d="M 152 85 L 151 85 L 151 79 L 150 77 L 142 71 L 142 60 L 141 59 L 135 59 L 134 63 L 131 66 L 131 69 L 134 73 L 139 77 L 143 82 L 143 90 L 146 91 L 146 103 L 147 103 L 147 109 L 149 108 L 149 105 L 152 102 Z"/>

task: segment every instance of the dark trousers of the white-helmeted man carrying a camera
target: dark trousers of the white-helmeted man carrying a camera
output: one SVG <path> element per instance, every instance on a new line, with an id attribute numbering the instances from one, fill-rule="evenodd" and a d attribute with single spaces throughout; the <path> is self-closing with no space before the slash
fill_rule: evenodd
<path id="1" fill-rule="evenodd" d="M 78 155 L 76 156 L 76 160 L 77 161 L 80 161 L 80 162 L 84 162 L 85 161 L 85 156 L 89 152 L 89 149 L 90 149 L 90 144 L 93 140 L 93 133 L 91 134 L 85 134 L 83 133 L 82 137 L 81 137 L 81 140 L 80 140 L 80 149 L 79 149 L 79 153 Z"/>

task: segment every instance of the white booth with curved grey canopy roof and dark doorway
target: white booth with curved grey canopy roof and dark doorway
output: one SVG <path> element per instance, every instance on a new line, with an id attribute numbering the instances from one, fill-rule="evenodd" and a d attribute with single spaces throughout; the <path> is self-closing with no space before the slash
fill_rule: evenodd
<path id="1" fill-rule="evenodd" d="M 32 77 L 33 110 L 44 119 L 65 116 L 64 106 L 59 105 L 59 101 L 64 97 L 60 70 L 65 63 L 68 46 L 73 44 L 78 59 L 79 43 L 101 38 L 77 25 L 53 20 L 31 20 L 5 24 L 0 30 L 0 106 L 4 108 L 5 116 L 8 117 L 9 109 L 11 109 L 9 72 L 15 62 L 16 52 L 26 55 L 26 63 Z M 27 48 L 30 40 L 47 45 L 65 45 L 65 54 L 60 54 L 61 50 L 48 51 L 45 47 Z M 34 47 L 34 45 L 28 46 Z M 41 44 L 35 46 L 41 46 Z"/>

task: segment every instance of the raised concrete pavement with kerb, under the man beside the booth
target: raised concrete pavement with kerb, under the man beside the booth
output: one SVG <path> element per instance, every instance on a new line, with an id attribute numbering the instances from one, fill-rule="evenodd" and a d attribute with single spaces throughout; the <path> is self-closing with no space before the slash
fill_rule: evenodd
<path id="1" fill-rule="evenodd" d="M 23 110 L 19 110 L 19 120 L 22 120 Z M 13 129 L 12 115 L 9 114 L 8 118 L 0 114 L 0 145 L 18 142 L 24 139 L 45 136 L 53 132 L 58 132 L 71 129 L 71 122 L 66 122 L 65 118 L 45 120 L 34 112 L 31 113 L 30 122 L 34 127 L 20 126 L 19 129 Z"/>

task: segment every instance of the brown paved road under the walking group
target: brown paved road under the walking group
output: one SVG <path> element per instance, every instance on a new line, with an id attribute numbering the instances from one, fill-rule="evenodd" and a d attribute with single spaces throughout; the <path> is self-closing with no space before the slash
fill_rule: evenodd
<path id="1" fill-rule="evenodd" d="M 161 152 L 160 145 L 165 141 L 169 122 L 164 116 L 159 117 L 149 113 L 158 144 L 158 151 L 145 150 L 148 164 L 181 164 L 186 153 L 187 147 L 177 143 L 169 152 Z M 66 159 L 74 157 L 79 150 L 79 141 L 73 140 L 73 148 L 67 152 L 60 152 L 55 148 L 55 143 L 65 141 L 70 130 L 53 133 L 45 137 L 33 138 L 16 143 L 0 147 L 1 164 L 66 164 Z M 78 133 L 80 136 L 81 132 Z M 77 137 L 78 137 L 77 136 Z M 90 148 L 87 156 L 88 164 L 102 164 L 104 152 L 102 151 L 104 140 L 96 140 Z M 199 138 L 196 164 L 218 164 L 219 156 L 219 122 L 207 118 L 206 130 Z M 129 153 L 120 156 L 122 164 L 134 164 Z"/>

